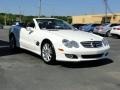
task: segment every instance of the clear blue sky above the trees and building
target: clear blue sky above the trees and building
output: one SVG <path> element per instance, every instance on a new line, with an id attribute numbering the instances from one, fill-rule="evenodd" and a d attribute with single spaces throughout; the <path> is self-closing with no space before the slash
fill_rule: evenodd
<path id="1" fill-rule="evenodd" d="M 112 12 L 120 12 L 120 0 L 108 0 Z M 0 0 L 0 13 L 38 15 L 39 0 Z M 42 0 L 42 15 L 78 16 L 105 12 L 103 0 Z"/>

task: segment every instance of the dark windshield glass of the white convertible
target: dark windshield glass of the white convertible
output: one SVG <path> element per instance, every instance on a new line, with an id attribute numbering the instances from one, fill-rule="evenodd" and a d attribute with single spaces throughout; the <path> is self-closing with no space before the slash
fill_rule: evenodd
<path id="1" fill-rule="evenodd" d="M 37 19 L 37 23 L 40 29 L 64 29 L 72 30 L 74 27 L 67 22 L 59 19 Z"/>

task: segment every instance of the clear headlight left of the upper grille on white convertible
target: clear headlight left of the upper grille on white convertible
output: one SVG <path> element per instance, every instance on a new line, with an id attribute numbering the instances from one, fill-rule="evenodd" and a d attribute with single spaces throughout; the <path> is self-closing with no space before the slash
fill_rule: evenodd
<path id="1" fill-rule="evenodd" d="M 79 44 L 76 41 L 69 41 L 67 39 L 63 39 L 62 43 L 64 44 L 64 46 L 68 47 L 68 48 L 79 48 Z"/>

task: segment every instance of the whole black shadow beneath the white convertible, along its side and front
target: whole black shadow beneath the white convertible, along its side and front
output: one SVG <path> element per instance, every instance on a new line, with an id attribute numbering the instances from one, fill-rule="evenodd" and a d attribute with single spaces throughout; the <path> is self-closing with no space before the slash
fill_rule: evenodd
<path id="1" fill-rule="evenodd" d="M 21 52 L 32 55 L 32 56 L 42 60 L 41 56 L 39 56 L 35 53 L 32 53 L 30 51 L 21 49 Z M 54 66 L 59 66 L 60 65 L 62 67 L 66 67 L 66 68 L 92 68 L 92 67 L 100 67 L 100 66 L 103 66 L 103 65 L 111 64 L 111 63 L 113 63 L 113 60 L 106 58 L 106 59 L 101 59 L 101 60 L 82 61 L 82 62 L 60 62 L 60 61 L 56 61 L 54 64 L 51 64 L 51 65 L 54 65 Z"/>

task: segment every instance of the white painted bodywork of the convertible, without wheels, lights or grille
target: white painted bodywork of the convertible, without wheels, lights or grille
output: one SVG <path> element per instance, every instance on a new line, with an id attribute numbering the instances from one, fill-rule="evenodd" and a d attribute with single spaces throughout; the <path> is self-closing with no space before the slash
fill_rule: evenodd
<path id="1" fill-rule="evenodd" d="M 38 55 L 41 55 L 41 43 L 44 39 L 49 39 L 55 49 L 56 52 L 56 60 L 58 61 L 87 61 L 87 60 L 98 60 L 106 58 L 106 54 L 110 48 L 109 45 L 102 46 L 100 48 L 85 48 L 80 42 L 83 41 L 102 41 L 103 37 L 83 32 L 83 31 L 75 31 L 75 30 L 42 30 L 37 25 L 36 19 L 33 19 L 35 23 L 35 27 L 30 28 L 21 28 L 20 26 L 13 26 L 10 33 L 14 33 L 15 38 L 17 40 L 17 46 L 31 52 L 34 52 Z M 14 30 L 17 28 L 17 30 Z M 32 29 L 32 30 L 30 30 Z M 67 48 L 62 43 L 63 39 L 74 40 L 79 44 L 79 48 Z M 36 43 L 39 42 L 39 46 Z M 59 49 L 63 49 L 64 51 L 60 51 Z M 65 54 L 75 54 L 78 59 L 70 59 L 65 56 Z M 95 55 L 95 54 L 103 54 L 102 57 L 99 58 L 82 58 L 81 55 Z"/>

